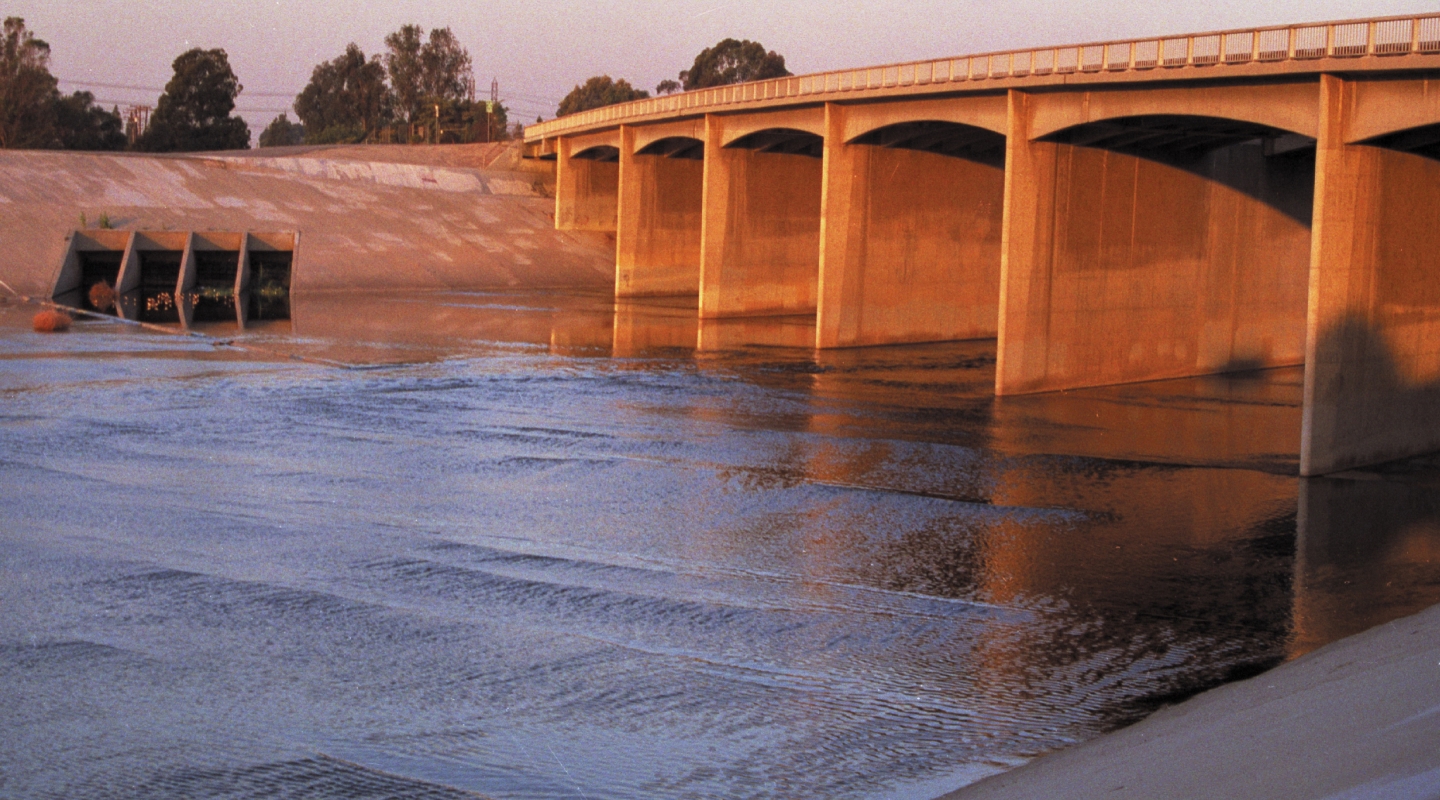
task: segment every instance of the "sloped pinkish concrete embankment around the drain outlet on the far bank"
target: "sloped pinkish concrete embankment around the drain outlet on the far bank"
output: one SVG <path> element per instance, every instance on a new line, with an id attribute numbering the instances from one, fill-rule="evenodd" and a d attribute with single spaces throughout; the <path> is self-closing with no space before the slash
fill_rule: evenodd
<path id="1" fill-rule="evenodd" d="M 348 155 L 348 154 L 347 154 Z M 613 286 L 613 239 L 557 232 L 526 171 L 292 157 L 0 153 L 0 279 L 45 295 L 65 236 L 122 229 L 292 230 L 295 291 Z"/>

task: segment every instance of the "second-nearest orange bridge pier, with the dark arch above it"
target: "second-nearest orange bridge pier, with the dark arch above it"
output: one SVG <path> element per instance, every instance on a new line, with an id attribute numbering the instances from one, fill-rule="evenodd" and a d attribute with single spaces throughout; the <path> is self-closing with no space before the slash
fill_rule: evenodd
<path id="1" fill-rule="evenodd" d="M 1312 86 L 1011 91 L 996 393 L 1303 363 Z"/>

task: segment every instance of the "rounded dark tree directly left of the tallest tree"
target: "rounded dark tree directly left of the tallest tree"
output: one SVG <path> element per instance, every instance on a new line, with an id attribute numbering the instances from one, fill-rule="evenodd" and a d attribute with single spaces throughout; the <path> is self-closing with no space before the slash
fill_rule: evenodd
<path id="1" fill-rule="evenodd" d="M 380 56 L 366 59 L 350 43 L 334 60 L 315 65 L 310 83 L 295 98 L 295 115 L 308 144 L 357 142 L 390 121 L 390 91 Z"/>

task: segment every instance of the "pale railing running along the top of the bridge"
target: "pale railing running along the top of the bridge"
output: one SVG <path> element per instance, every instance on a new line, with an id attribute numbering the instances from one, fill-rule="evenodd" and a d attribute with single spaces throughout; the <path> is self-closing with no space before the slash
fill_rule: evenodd
<path id="1" fill-rule="evenodd" d="M 1094 42 L 1030 50 L 1005 50 L 946 59 L 838 69 L 734 83 L 582 111 L 526 127 L 537 140 L 611 122 L 719 109 L 727 105 L 844 95 L 845 92 L 960 83 L 996 78 L 1205 69 L 1256 62 L 1352 59 L 1440 53 L 1440 14 L 1326 22 L 1248 30 Z"/>

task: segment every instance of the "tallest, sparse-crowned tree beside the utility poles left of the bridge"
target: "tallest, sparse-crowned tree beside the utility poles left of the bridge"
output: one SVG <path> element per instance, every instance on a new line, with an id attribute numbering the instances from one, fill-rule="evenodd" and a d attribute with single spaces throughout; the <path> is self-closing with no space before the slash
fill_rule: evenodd
<path id="1" fill-rule="evenodd" d="M 423 33 L 420 26 L 406 24 L 384 37 L 389 50 L 384 71 L 395 102 L 410 122 L 422 121 L 426 108 L 433 112 L 436 101 L 462 101 L 469 95 L 469 52 L 449 27 L 432 29 L 429 40 L 423 40 Z"/>

